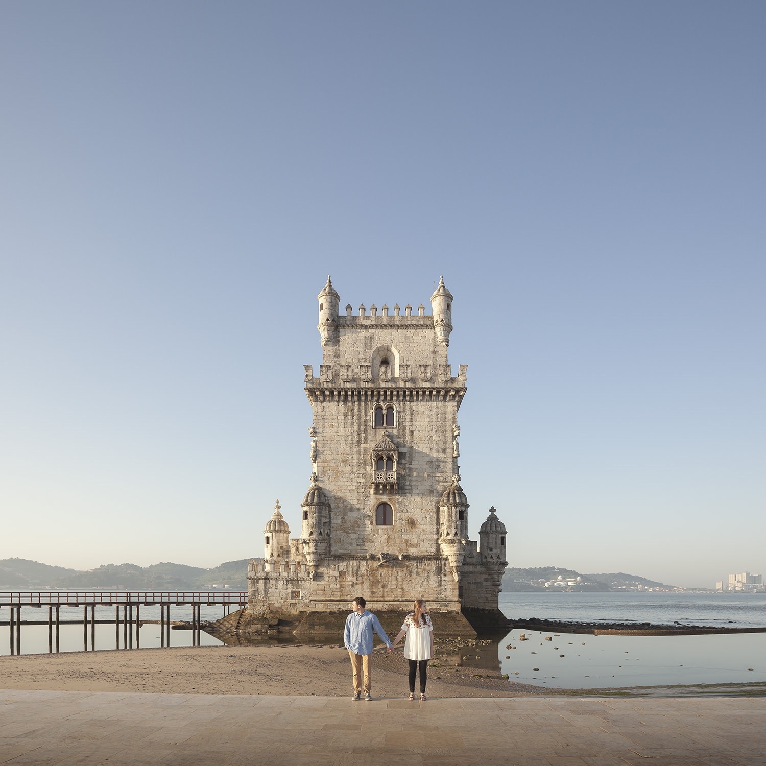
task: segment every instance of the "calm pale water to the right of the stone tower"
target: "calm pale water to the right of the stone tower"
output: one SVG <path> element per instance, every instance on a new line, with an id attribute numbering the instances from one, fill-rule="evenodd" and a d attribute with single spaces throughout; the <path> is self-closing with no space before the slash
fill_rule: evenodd
<path id="1" fill-rule="evenodd" d="M 501 593 L 500 608 L 510 618 L 766 627 L 766 594 Z M 521 633 L 528 640 L 520 640 Z M 473 652 L 473 662 L 499 663 L 512 680 L 540 686 L 766 681 L 766 633 L 591 636 L 513 630 L 492 649 Z"/>

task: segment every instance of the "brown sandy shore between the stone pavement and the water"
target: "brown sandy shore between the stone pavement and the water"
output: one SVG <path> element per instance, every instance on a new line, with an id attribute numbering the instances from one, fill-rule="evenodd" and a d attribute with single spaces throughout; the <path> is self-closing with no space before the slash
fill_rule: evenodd
<path id="1" fill-rule="evenodd" d="M 407 662 L 401 649 L 373 651 L 372 693 L 404 698 Z M 429 669 L 434 698 L 766 696 L 766 682 L 551 689 L 515 683 L 478 668 Z M 0 657 L 0 688 L 79 692 L 338 696 L 351 694 L 349 655 L 339 644 L 261 647 L 152 647 Z"/>

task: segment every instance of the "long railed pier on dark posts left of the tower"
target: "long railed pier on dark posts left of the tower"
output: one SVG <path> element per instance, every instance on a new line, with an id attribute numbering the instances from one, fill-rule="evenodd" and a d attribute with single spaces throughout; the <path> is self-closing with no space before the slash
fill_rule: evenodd
<path id="1" fill-rule="evenodd" d="M 136 649 L 141 646 L 139 627 L 141 607 L 159 606 L 160 646 L 170 646 L 170 607 L 191 606 L 191 644 L 199 646 L 202 605 L 223 607 L 223 616 L 247 606 L 247 591 L 5 591 L 0 592 L 0 610 L 8 607 L 11 654 L 21 654 L 21 626 L 44 625 L 45 620 L 22 620 L 21 607 L 41 609 L 47 607 L 48 652 L 59 651 L 61 625 L 79 625 L 80 620 L 61 620 L 61 607 L 83 607 L 83 651 L 96 649 L 97 624 L 111 624 L 112 620 L 97 620 L 96 607 L 115 607 L 115 648 Z M 122 613 L 120 613 L 122 610 Z M 153 620 L 152 620 L 153 621 Z M 90 647 L 88 633 L 90 628 Z M 122 629 L 122 630 L 121 630 Z M 120 647 L 120 633 L 123 646 Z"/>

